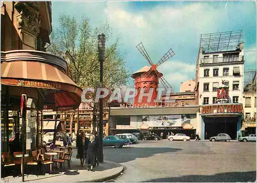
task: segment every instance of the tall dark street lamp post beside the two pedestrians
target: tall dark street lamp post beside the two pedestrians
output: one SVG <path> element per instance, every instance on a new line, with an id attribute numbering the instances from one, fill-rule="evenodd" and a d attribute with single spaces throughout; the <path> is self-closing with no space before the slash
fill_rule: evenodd
<path id="1" fill-rule="evenodd" d="M 100 88 L 103 88 L 103 62 L 105 58 L 105 35 L 103 33 L 98 35 L 98 59 L 100 62 Z M 99 99 L 99 138 L 100 138 L 100 152 L 98 161 L 103 162 L 103 98 Z"/>

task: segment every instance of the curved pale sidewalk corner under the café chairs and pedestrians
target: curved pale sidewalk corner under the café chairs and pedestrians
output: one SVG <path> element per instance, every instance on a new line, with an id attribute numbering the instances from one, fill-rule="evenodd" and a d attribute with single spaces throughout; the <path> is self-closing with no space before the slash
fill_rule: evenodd
<path id="1" fill-rule="evenodd" d="M 71 168 L 68 170 L 65 164 L 66 172 L 53 172 L 54 174 L 29 175 L 25 176 L 25 181 L 29 182 L 103 182 L 118 177 L 124 170 L 124 167 L 116 162 L 105 160 L 95 168 L 95 172 L 87 171 L 87 166 L 80 166 L 80 159 L 71 159 Z M 53 171 L 55 168 L 53 168 Z M 22 177 L 12 176 L 1 178 L 1 182 L 22 182 Z"/>

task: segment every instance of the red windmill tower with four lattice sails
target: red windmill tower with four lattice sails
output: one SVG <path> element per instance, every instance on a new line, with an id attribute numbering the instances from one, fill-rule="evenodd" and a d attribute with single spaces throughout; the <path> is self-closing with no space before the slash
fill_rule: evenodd
<path id="1" fill-rule="evenodd" d="M 161 84 L 163 85 L 164 89 L 167 91 L 168 89 L 171 89 L 171 86 L 167 82 L 166 79 L 164 79 L 163 74 L 157 71 L 157 67 L 164 62 L 166 62 L 169 58 L 175 55 L 172 49 L 168 50 L 166 54 L 164 54 L 161 59 L 157 62 L 157 64 L 154 64 L 144 49 L 144 46 L 142 43 L 138 44 L 136 48 L 139 50 L 139 52 L 144 56 L 144 58 L 148 61 L 150 66 L 144 66 L 140 70 L 136 71 L 131 75 L 133 77 L 134 83 L 135 83 L 135 89 L 138 91 L 138 94 L 134 98 L 134 105 L 142 105 L 142 104 L 148 104 L 149 106 L 154 106 L 154 100 L 157 98 L 157 88 L 159 84 L 159 80 Z M 153 91 L 153 95 L 151 98 L 151 101 L 147 101 L 147 97 L 143 97 L 141 101 L 139 101 L 139 94 L 140 90 L 144 89 L 144 93 L 149 93 L 149 91 Z M 151 90 L 150 90 L 151 89 Z"/>

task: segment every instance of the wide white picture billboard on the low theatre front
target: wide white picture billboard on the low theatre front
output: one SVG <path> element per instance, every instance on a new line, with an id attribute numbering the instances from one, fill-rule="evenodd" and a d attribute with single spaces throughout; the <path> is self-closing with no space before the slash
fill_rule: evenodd
<path id="1" fill-rule="evenodd" d="M 155 127 L 188 127 L 191 126 L 190 114 L 183 115 L 149 115 L 142 116 L 140 129 Z"/>

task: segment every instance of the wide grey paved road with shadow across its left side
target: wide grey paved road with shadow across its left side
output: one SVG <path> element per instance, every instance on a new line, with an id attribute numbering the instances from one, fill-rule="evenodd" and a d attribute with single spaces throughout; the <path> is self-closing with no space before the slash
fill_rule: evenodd
<path id="1" fill-rule="evenodd" d="M 125 166 L 116 182 L 247 182 L 256 179 L 255 143 L 140 141 L 104 148 L 104 158 Z"/>

